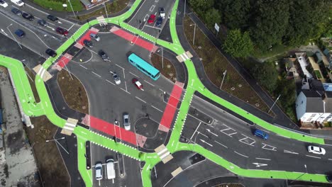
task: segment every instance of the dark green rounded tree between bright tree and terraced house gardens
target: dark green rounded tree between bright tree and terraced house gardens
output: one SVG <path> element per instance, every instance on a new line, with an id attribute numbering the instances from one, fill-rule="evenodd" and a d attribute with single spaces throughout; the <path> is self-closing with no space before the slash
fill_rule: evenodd
<path id="1" fill-rule="evenodd" d="M 277 69 L 270 62 L 256 64 L 251 69 L 253 76 L 261 86 L 264 86 L 268 91 L 275 90 L 278 81 Z"/>

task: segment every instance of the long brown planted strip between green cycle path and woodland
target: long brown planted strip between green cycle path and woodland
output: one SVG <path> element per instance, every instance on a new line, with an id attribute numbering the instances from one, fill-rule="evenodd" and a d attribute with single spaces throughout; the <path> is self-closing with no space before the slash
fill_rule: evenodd
<path id="1" fill-rule="evenodd" d="M 184 33 L 187 36 L 189 44 L 192 45 L 194 37 L 194 22 L 188 16 L 184 18 Z M 218 51 L 216 46 L 214 46 L 209 38 L 206 38 L 206 35 L 204 35 L 198 27 L 196 28 L 195 42 L 194 45 L 192 45 L 192 48 L 201 58 L 206 75 L 214 85 L 217 87 L 221 86 L 223 72 L 227 70 L 225 79 L 223 80 L 222 89 L 227 91 L 228 94 L 236 96 L 267 113 L 269 108 L 262 99 L 251 88 L 248 82 L 238 74 L 226 57 Z"/>

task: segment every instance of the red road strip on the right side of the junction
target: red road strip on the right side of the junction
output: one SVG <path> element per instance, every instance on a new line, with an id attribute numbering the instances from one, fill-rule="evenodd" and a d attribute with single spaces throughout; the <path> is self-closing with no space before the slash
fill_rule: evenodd
<path id="1" fill-rule="evenodd" d="M 167 106 L 165 107 L 164 114 L 160 120 L 160 125 L 165 126 L 165 128 L 170 129 L 172 125 L 172 120 L 174 118 L 175 112 L 177 111 L 177 103 L 179 103 L 179 98 L 182 94 L 182 87 L 174 85 L 170 98 L 168 99 Z"/>

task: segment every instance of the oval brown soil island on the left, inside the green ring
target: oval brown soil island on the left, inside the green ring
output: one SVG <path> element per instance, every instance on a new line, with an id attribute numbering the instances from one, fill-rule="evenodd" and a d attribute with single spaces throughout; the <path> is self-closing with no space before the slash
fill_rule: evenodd
<path id="1" fill-rule="evenodd" d="M 74 77 L 73 74 L 71 75 L 72 76 L 70 77 L 70 74 L 64 69 L 57 74 L 57 84 L 60 86 L 62 96 L 65 98 L 65 101 L 70 108 L 88 114 L 89 101 L 87 98 L 87 92 L 81 84 L 81 81 Z"/>

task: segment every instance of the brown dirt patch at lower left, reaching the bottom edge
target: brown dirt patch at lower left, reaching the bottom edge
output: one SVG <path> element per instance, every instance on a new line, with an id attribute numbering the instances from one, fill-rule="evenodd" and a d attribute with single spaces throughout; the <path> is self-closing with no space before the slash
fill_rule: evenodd
<path id="1" fill-rule="evenodd" d="M 28 139 L 33 146 L 35 159 L 43 179 L 44 186 L 70 186 L 70 176 L 67 173 L 65 164 L 62 161 L 60 152 L 57 149 L 53 135 L 57 131 L 57 126 L 50 123 L 45 115 L 31 118 L 31 123 L 35 128 L 27 128 Z"/>

